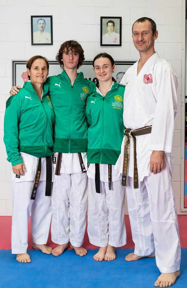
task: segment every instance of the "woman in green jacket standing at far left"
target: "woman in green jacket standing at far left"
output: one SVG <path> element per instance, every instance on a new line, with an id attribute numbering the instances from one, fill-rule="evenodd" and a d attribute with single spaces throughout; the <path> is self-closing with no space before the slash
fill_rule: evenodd
<path id="1" fill-rule="evenodd" d="M 31 212 L 33 248 L 50 254 L 47 238 L 52 216 L 51 181 L 53 107 L 48 87 L 43 87 L 49 63 L 33 56 L 26 64 L 30 82 L 6 103 L 4 142 L 12 163 L 12 254 L 18 262 L 31 262 L 27 253 Z M 46 181 L 47 180 L 47 181 Z"/>

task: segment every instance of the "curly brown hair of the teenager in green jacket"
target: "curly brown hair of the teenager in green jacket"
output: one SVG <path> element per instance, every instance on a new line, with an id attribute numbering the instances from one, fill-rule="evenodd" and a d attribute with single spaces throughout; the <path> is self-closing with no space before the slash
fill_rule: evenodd
<path id="1" fill-rule="evenodd" d="M 56 54 L 56 60 L 57 62 L 60 64 L 61 68 L 64 68 L 64 64 L 62 59 L 62 54 L 66 51 L 74 51 L 75 53 L 79 54 L 79 62 L 77 65 L 77 69 L 83 65 L 84 62 L 84 50 L 81 47 L 81 44 L 79 44 L 79 42 L 75 41 L 75 40 L 69 40 L 69 41 L 65 41 L 64 43 L 61 44 L 60 49 L 58 50 L 58 53 Z"/>

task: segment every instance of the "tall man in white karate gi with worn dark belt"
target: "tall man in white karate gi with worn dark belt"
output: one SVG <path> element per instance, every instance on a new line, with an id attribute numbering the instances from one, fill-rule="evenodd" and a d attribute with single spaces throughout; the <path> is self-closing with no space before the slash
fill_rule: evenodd
<path id="1" fill-rule="evenodd" d="M 133 24 L 132 33 L 140 59 L 120 82 L 126 85 L 123 122 L 127 136 L 116 164 L 123 175 L 122 185 L 126 186 L 135 243 L 134 253 L 125 260 L 155 256 L 161 275 L 154 285 L 168 287 L 180 275 L 181 258 L 171 185 L 178 82 L 171 65 L 154 50 L 158 37 L 155 22 L 147 17 L 140 18 Z M 131 131 L 136 129 L 140 130 Z"/>

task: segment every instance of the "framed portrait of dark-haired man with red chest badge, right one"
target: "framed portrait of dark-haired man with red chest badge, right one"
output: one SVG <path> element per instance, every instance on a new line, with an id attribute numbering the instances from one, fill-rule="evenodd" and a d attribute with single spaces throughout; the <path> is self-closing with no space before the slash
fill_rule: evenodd
<path id="1" fill-rule="evenodd" d="M 121 17 L 101 17 L 101 46 L 121 46 Z"/>

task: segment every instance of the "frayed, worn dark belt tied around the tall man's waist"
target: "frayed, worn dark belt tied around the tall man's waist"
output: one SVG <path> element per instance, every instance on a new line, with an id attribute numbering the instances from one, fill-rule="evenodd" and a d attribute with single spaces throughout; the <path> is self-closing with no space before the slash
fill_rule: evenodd
<path id="1" fill-rule="evenodd" d="M 130 156 L 130 138 L 132 138 L 133 142 L 133 152 L 134 152 L 134 189 L 138 188 L 138 168 L 137 168 L 137 160 L 136 160 L 136 137 L 140 135 L 150 134 L 152 129 L 151 126 L 142 127 L 136 130 L 133 129 L 125 129 L 125 143 L 124 143 L 124 156 L 123 156 L 123 174 L 122 174 L 122 186 L 127 186 L 127 177 L 129 170 L 129 156 Z"/>

